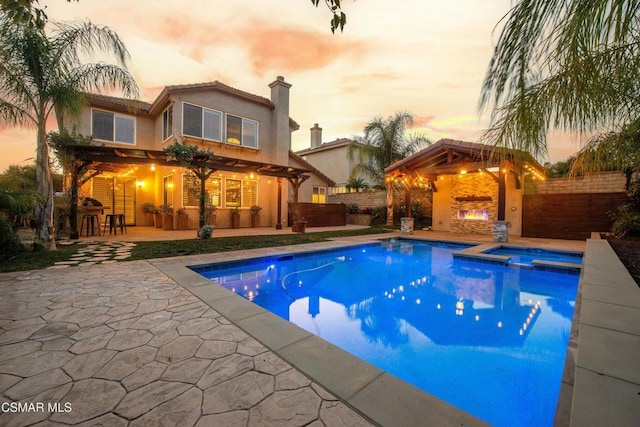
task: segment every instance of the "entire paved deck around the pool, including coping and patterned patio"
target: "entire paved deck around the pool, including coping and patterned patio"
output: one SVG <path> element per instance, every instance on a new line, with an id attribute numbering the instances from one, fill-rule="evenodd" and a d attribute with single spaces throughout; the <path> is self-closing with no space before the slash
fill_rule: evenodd
<path id="1" fill-rule="evenodd" d="M 89 239 L 195 238 L 195 230 L 128 231 Z M 0 403 L 34 406 L 3 405 L 0 424 L 484 425 L 185 268 L 374 238 L 2 274 Z M 636 425 L 640 289 L 633 279 L 604 241 L 509 244 L 586 249 L 556 424 Z"/>

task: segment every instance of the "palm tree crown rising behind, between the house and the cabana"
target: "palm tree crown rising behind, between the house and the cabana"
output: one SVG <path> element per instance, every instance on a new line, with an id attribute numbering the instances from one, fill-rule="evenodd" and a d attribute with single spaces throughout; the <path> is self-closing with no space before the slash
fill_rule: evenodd
<path id="1" fill-rule="evenodd" d="M 358 161 L 351 175 L 363 174 L 384 188 L 385 168 L 431 143 L 422 135 L 407 135 L 412 124 L 413 116 L 407 112 L 386 120 L 376 117 L 367 123 L 364 137 L 356 137 L 349 145 L 349 159 Z"/>

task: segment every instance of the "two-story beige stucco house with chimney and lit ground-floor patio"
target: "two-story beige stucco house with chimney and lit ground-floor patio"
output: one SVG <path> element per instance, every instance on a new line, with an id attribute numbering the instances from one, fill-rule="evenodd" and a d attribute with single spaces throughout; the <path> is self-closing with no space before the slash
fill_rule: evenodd
<path id="1" fill-rule="evenodd" d="M 217 227 L 230 227 L 235 209 L 240 226 L 250 226 L 254 205 L 262 207 L 261 225 L 286 225 L 292 185 L 300 185 L 300 201 L 310 202 L 314 187 L 333 181 L 291 151 L 299 128 L 289 115 L 291 84 L 278 76 L 269 88 L 265 98 L 219 81 L 167 86 L 151 103 L 88 94 L 75 126 L 93 137 L 94 148 L 80 156 L 95 176 L 80 196 L 124 214 L 128 225 L 144 225 L 144 203 L 185 208 L 189 228 L 197 228 L 197 182 L 162 151 L 177 141 L 211 154 L 215 172 L 206 192 Z"/>

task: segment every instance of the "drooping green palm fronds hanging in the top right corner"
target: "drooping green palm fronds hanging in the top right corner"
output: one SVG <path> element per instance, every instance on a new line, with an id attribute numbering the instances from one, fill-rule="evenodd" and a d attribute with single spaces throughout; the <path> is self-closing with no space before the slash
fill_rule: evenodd
<path id="1" fill-rule="evenodd" d="M 542 157 L 550 129 L 620 131 L 640 112 L 640 2 L 521 0 L 484 81 L 486 140 Z"/>

